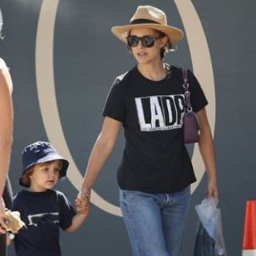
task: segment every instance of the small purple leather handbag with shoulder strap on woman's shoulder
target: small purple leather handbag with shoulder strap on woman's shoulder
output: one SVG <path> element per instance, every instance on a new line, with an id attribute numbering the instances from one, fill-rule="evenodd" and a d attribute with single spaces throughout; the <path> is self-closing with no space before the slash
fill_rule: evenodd
<path id="1" fill-rule="evenodd" d="M 186 114 L 183 119 L 183 133 L 184 133 L 184 142 L 186 144 L 195 143 L 199 141 L 199 126 L 198 126 L 198 117 L 197 114 L 193 111 L 190 102 L 190 90 L 189 83 L 187 79 L 187 70 L 182 70 L 183 76 L 183 87 L 185 89 L 185 98 L 186 98 Z"/>

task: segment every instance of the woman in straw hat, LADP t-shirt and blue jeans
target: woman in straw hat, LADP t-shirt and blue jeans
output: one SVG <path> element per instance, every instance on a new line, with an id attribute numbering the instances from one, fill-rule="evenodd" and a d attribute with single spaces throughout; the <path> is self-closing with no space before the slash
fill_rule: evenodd
<path id="1" fill-rule="evenodd" d="M 78 203 L 82 204 L 82 198 L 89 203 L 91 187 L 123 126 L 126 148 L 118 168 L 118 185 L 134 255 L 178 256 L 195 176 L 182 133 L 186 111 L 182 70 L 164 63 L 163 57 L 182 38 L 182 31 L 167 25 L 162 10 L 138 6 L 130 24 L 114 26 L 112 32 L 127 44 L 138 65 L 116 78 L 110 90 Z M 208 174 L 207 196 L 218 196 L 207 101 L 191 71 L 188 79 L 201 127 L 199 147 Z"/>

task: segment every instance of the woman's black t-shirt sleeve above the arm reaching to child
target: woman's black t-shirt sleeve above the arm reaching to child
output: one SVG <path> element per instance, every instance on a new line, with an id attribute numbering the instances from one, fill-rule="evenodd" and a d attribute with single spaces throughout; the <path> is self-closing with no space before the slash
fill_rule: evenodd
<path id="1" fill-rule="evenodd" d="M 106 103 L 102 112 L 103 117 L 107 116 L 119 122 L 123 122 L 126 112 L 124 94 L 123 85 L 118 78 L 116 78 L 106 98 Z"/>

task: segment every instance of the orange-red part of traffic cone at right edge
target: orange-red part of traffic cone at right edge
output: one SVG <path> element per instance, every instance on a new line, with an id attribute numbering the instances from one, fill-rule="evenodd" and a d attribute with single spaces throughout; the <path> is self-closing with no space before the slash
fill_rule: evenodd
<path id="1" fill-rule="evenodd" d="M 256 249 L 256 200 L 246 202 L 242 250 Z"/>

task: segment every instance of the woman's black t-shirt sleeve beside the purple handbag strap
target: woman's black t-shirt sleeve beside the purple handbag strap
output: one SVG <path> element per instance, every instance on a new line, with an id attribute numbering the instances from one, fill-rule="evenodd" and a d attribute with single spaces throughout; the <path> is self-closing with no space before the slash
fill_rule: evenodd
<path id="1" fill-rule="evenodd" d="M 198 79 L 194 76 L 193 72 L 188 70 L 187 75 L 188 83 L 190 85 L 189 90 L 191 105 L 194 112 L 198 112 L 199 110 L 202 110 L 202 108 L 205 107 L 208 104 L 208 102 L 202 90 L 202 87 L 200 86 Z"/>

